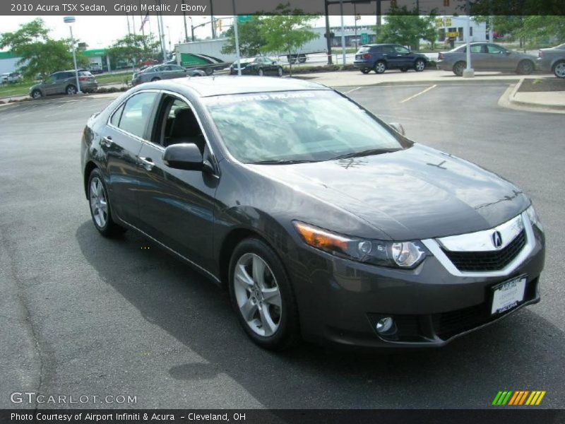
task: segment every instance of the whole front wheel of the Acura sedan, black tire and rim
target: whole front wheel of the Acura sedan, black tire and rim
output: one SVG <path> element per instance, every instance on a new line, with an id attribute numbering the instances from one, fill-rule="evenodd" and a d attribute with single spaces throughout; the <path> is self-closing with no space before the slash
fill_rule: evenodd
<path id="1" fill-rule="evenodd" d="M 256 270 L 261 274 L 255 276 Z M 243 240 L 232 254 L 229 276 L 232 307 L 249 338 L 273 351 L 294 346 L 300 334 L 298 308 L 273 249 L 256 238 Z"/>

